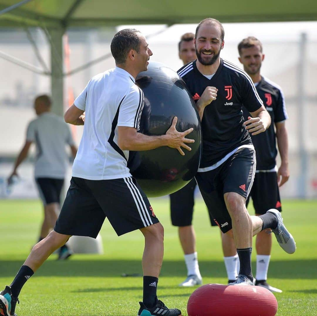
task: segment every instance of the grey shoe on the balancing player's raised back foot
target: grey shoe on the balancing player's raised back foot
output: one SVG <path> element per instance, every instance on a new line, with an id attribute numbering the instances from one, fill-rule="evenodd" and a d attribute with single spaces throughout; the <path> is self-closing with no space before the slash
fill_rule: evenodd
<path id="1" fill-rule="evenodd" d="M 274 214 L 277 217 L 277 227 L 272 229 L 275 234 L 276 240 L 283 250 L 289 254 L 292 254 L 296 250 L 296 243 L 293 236 L 288 232 L 285 225 L 283 224 L 283 218 L 281 213 L 274 208 L 271 208 L 267 212 Z"/>

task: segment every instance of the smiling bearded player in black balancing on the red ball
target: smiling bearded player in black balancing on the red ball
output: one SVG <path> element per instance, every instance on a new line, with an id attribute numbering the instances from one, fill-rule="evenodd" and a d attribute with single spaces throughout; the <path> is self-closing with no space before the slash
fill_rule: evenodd
<path id="1" fill-rule="evenodd" d="M 256 171 L 249 133 L 264 132 L 271 120 L 250 77 L 220 58 L 223 38 L 219 21 L 209 18 L 200 22 L 194 39 L 197 60 L 183 66 L 178 74 L 196 101 L 202 121 L 203 155 L 196 176 L 199 189 L 221 231 L 234 235 L 240 259 L 234 284 L 253 285 L 252 235 L 271 228 L 286 252 L 293 253 L 296 247 L 280 212 L 272 209 L 257 217 L 246 209 Z M 246 122 L 243 105 L 253 117 Z"/>

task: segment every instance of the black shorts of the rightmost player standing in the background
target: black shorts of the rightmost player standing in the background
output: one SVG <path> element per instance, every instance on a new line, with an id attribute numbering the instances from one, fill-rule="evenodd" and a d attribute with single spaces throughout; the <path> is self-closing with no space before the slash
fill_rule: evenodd
<path id="1" fill-rule="evenodd" d="M 265 214 L 270 208 L 282 212 L 280 190 L 277 184 L 276 172 L 257 172 L 247 199 L 252 198 L 256 214 Z"/>

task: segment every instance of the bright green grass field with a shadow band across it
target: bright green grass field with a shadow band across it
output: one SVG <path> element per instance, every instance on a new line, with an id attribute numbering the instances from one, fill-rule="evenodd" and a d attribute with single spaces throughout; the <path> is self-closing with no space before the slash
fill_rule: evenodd
<path id="1" fill-rule="evenodd" d="M 177 287 L 186 276 L 177 228 L 170 224 L 168 199 L 151 199 L 151 204 L 165 227 L 165 256 L 158 296 L 168 307 L 180 308 L 185 316 L 187 300 L 194 289 Z M 1 200 L 0 210 L 0 288 L 4 288 L 38 237 L 42 210 L 39 201 L 29 200 Z M 276 294 L 277 315 L 317 315 L 317 201 L 284 201 L 283 210 L 297 250 L 288 255 L 274 240 L 268 279 L 283 290 Z M 225 284 L 219 230 L 210 227 L 201 200 L 195 205 L 194 226 L 204 284 Z M 105 251 L 102 256 L 74 255 L 68 261 L 58 262 L 56 255 L 52 255 L 25 284 L 17 314 L 136 315 L 138 302 L 142 300 L 142 277 L 121 277 L 121 274 L 142 273 L 143 237 L 139 231 L 117 237 L 107 220 L 101 236 Z M 238 315 L 243 313 L 235 316 Z"/>

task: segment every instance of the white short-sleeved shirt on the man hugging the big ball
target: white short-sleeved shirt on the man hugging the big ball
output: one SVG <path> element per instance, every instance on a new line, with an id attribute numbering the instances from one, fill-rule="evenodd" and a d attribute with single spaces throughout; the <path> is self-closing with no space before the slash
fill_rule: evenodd
<path id="1" fill-rule="evenodd" d="M 129 151 L 118 146 L 118 126 L 139 129 L 144 95 L 132 75 L 119 67 L 100 73 L 88 82 L 74 104 L 86 112 L 86 117 L 73 177 L 130 177 Z"/>

